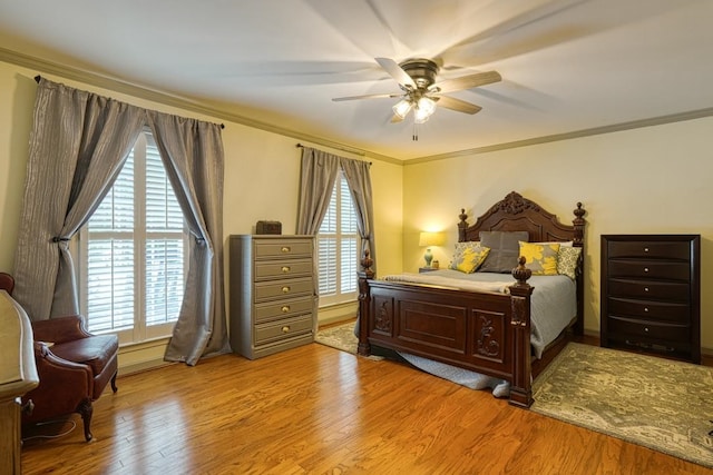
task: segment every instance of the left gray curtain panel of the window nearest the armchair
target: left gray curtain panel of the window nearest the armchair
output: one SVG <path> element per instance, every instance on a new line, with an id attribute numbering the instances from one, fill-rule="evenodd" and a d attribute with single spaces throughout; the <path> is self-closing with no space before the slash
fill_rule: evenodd
<path id="1" fill-rule="evenodd" d="M 144 118 L 134 106 L 40 79 L 12 295 L 32 320 L 79 311 L 68 241 L 111 188 Z"/>

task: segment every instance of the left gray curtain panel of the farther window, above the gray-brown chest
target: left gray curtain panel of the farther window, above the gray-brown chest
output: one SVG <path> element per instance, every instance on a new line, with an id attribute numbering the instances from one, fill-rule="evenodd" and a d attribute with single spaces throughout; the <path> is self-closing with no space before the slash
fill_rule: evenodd
<path id="1" fill-rule="evenodd" d="M 302 148 L 297 234 L 314 236 L 320 230 L 339 172 L 339 157 L 310 147 Z"/>

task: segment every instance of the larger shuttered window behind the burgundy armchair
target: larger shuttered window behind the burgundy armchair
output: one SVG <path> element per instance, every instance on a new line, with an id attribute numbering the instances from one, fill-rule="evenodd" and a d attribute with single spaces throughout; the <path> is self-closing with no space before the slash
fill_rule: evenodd
<path id="1" fill-rule="evenodd" d="M 81 310 L 121 343 L 168 336 L 183 300 L 187 232 L 150 132 L 80 232 Z"/>

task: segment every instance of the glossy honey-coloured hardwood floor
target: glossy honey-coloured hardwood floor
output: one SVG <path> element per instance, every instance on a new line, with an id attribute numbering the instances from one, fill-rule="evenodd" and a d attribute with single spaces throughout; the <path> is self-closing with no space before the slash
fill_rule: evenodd
<path id="1" fill-rule="evenodd" d="M 707 474 L 393 362 L 310 344 L 119 377 L 81 420 L 22 448 L 26 475 Z M 43 431 L 62 431 L 45 427 Z"/>

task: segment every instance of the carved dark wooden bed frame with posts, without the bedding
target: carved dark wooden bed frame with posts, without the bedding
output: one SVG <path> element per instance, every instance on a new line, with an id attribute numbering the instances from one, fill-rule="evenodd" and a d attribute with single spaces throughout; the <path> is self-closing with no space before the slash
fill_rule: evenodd
<path id="1" fill-rule="evenodd" d="M 472 226 L 461 210 L 458 240 L 478 240 L 480 231 L 527 230 L 530 243 L 574 241 L 584 247 L 580 202 L 572 225 L 512 191 L 480 216 Z M 580 254 L 584 256 L 584 249 Z M 509 403 L 529 407 L 531 382 L 565 346 L 570 335 L 584 331 L 584 259 L 576 273 L 577 316 L 540 359 L 530 347 L 530 270 L 512 270 L 508 294 L 463 291 L 448 287 L 378 280 L 365 255 L 359 273 L 359 354 L 372 346 L 404 352 L 462 367 L 510 383 Z M 504 275 L 504 277 L 507 275 Z"/>

